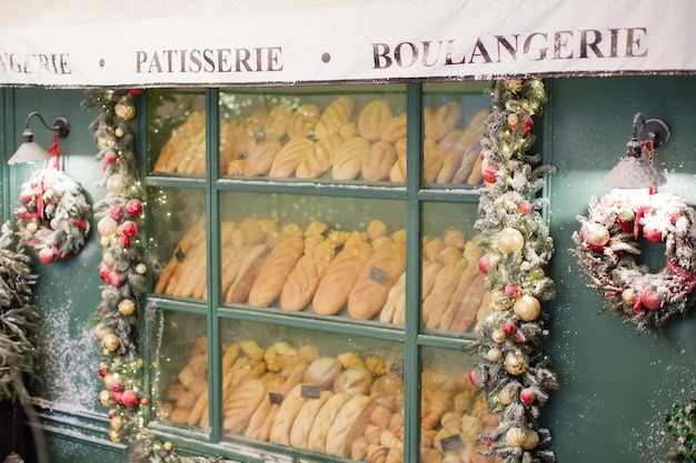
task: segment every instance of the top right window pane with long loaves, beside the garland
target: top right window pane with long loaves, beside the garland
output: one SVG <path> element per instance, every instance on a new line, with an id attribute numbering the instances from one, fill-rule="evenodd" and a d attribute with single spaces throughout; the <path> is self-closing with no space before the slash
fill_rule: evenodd
<path id="1" fill-rule="evenodd" d="M 424 85 L 422 181 L 427 187 L 481 183 L 484 120 L 490 113 L 481 82 Z"/>

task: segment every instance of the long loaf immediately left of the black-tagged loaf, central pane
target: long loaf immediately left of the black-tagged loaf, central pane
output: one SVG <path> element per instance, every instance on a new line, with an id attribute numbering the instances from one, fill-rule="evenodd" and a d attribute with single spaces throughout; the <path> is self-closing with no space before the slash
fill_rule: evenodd
<path id="1" fill-rule="evenodd" d="M 349 240 L 331 261 L 312 299 L 312 310 L 320 315 L 338 313 L 346 302 L 362 268 L 375 252 L 360 238 Z"/>

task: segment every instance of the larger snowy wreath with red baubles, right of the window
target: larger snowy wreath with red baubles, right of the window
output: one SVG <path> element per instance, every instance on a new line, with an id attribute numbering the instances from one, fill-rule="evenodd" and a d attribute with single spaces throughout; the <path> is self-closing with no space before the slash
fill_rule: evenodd
<path id="1" fill-rule="evenodd" d="M 605 308 L 637 331 L 656 330 L 694 305 L 696 211 L 672 193 L 640 197 L 616 190 L 590 200 L 573 234 L 588 285 L 604 291 Z M 639 236 L 664 242 L 666 264 L 650 272 L 639 263 Z"/>

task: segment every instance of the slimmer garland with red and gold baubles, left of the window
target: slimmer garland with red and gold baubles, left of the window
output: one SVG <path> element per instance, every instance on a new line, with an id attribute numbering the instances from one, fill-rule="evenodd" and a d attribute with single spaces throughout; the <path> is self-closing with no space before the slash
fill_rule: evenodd
<path id="1" fill-rule="evenodd" d="M 102 301 L 95 314 L 95 334 L 102 351 L 99 375 L 105 389 L 99 402 L 109 409 L 109 439 L 129 443 L 129 462 L 193 463 L 220 459 L 179 456 L 171 442 L 160 442 L 142 426 L 141 412 L 149 405 L 142 386 L 142 359 L 136 332 L 142 316 L 147 265 L 140 229 L 145 194 L 137 171 L 129 121 L 136 117 L 135 99 L 141 90 L 90 90 L 83 109 L 101 112 L 90 124 L 100 149 L 97 160 L 105 172 L 107 197 L 95 204 L 100 218 L 103 280 Z"/>

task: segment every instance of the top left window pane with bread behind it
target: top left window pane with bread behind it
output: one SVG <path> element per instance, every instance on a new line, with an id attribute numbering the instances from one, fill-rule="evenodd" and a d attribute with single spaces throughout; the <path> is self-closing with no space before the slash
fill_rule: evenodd
<path id="1" fill-rule="evenodd" d="M 206 173 L 206 93 L 193 89 L 151 89 L 148 95 L 148 152 L 152 173 Z"/>

